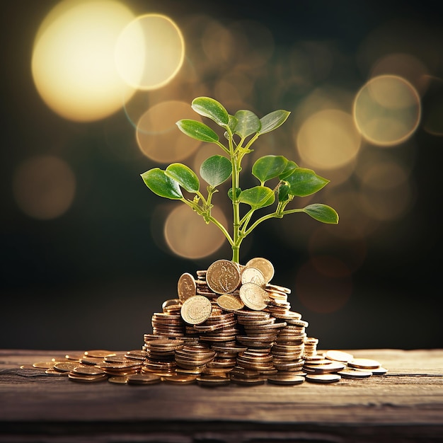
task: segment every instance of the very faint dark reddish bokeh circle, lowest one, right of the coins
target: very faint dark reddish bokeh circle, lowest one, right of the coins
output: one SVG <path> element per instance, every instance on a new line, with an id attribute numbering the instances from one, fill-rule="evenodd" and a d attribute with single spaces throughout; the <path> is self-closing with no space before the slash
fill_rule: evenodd
<path id="1" fill-rule="evenodd" d="M 301 304 L 316 313 L 333 313 L 343 308 L 352 294 L 352 279 L 344 263 L 333 257 L 309 260 L 300 267 L 295 280 L 295 290 Z"/>

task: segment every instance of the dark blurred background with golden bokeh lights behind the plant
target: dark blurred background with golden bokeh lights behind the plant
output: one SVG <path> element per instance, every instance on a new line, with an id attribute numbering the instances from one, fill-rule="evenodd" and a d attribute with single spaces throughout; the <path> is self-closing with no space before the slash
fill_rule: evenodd
<path id="1" fill-rule="evenodd" d="M 198 171 L 217 153 L 174 125 L 197 117 L 196 96 L 232 114 L 290 110 L 256 155 L 330 179 L 293 207 L 326 203 L 338 226 L 292 214 L 260 225 L 241 252 L 241 263 L 273 263 L 318 347 L 442 346 L 443 28 L 432 2 L 94 3 L 71 18 L 72 1 L 62 18 L 60 6 L 48 16 L 58 1 L 1 6 L 0 347 L 137 349 L 183 272 L 231 258 L 217 231 L 139 176 L 175 161 Z M 171 48 L 153 50 L 142 88 L 125 96 L 108 79 L 109 47 L 131 14 L 150 13 L 180 33 L 152 25 Z M 151 74 L 163 64 L 172 74 L 160 84 Z M 223 194 L 214 203 L 229 222 Z"/>

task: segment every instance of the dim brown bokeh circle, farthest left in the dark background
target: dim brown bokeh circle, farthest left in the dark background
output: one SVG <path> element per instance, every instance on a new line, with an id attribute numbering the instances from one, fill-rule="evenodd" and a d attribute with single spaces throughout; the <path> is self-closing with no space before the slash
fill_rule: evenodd
<path id="1" fill-rule="evenodd" d="M 67 212 L 76 193 L 68 163 L 56 156 L 35 156 L 18 166 L 13 196 L 18 207 L 35 219 L 55 219 Z"/>

